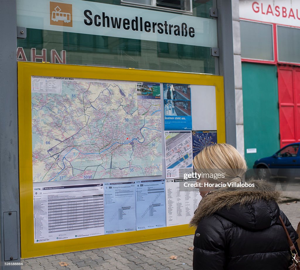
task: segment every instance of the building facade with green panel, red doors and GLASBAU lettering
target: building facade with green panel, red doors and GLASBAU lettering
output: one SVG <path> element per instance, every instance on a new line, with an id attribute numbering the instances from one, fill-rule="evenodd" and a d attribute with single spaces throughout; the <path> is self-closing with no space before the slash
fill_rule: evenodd
<path id="1" fill-rule="evenodd" d="M 235 62 L 235 84 L 242 85 L 236 119 L 244 129 L 237 141 L 244 141 L 252 168 L 256 159 L 300 141 L 300 4 L 240 0 L 232 10 L 235 59 L 241 55 Z"/>

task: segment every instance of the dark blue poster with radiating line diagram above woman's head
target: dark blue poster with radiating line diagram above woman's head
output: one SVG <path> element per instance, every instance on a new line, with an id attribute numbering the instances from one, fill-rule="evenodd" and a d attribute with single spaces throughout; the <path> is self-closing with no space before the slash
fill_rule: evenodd
<path id="1" fill-rule="evenodd" d="M 217 143 L 216 130 L 193 130 L 193 158 L 197 156 L 204 147 Z"/>

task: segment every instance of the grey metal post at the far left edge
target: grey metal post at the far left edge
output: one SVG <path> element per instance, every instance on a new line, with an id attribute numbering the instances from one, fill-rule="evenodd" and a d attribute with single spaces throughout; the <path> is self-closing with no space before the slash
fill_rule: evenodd
<path id="1" fill-rule="evenodd" d="M 21 269 L 16 0 L 0 0 L 0 269 Z"/>

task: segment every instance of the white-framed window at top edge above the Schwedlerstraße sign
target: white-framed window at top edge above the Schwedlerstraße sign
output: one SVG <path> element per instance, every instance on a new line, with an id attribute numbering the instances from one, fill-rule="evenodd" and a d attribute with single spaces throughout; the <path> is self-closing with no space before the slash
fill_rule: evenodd
<path id="1" fill-rule="evenodd" d="M 121 0 L 121 3 L 192 12 L 191 0 Z"/>

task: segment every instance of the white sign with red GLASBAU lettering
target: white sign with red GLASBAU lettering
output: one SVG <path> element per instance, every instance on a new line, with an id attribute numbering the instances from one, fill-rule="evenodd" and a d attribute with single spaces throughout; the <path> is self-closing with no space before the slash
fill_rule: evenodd
<path id="1" fill-rule="evenodd" d="M 239 1 L 240 18 L 300 27 L 299 0 Z"/>

